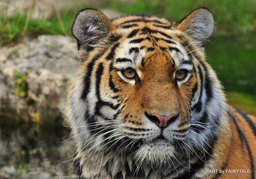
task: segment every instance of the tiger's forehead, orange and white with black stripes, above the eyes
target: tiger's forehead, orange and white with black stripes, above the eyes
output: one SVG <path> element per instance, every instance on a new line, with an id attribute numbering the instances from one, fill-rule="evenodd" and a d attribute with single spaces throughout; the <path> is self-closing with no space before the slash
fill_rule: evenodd
<path id="1" fill-rule="evenodd" d="M 151 29 L 144 25 L 142 28 L 133 28 L 127 33 L 125 39 L 118 42 L 110 50 L 115 54 L 116 67 L 125 69 L 128 63 L 136 66 L 144 66 L 147 62 L 184 61 L 188 60 L 182 46 L 168 33 Z M 154 58 L 154 57 L 160 58 Z M 152 58 L 153 57 L 153 58 Z M 179 65 L 179 62 L 173 62 Z"/>

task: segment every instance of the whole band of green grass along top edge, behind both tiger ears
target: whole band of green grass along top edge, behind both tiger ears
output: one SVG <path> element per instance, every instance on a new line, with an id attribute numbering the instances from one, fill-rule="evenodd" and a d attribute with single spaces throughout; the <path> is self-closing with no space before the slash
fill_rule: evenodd
<path id="1" fill-rule="evenodd" d="M 35 2 L 31 8 L 34 8 Z M 88 1 L 90 2 L 90 1 Z M 131 12 L 146 12 L 175 22 L 183 19 L 191 11 L 199 7 L 208 7 L 216 20 L 217 31 L 251 31 L 256 27 L 255 0 L 105 0 L 101 3 L 85 2 L 84 5 L 74 1 L 72 7 L 59 11 L 48 20 L 33 19 L 31 11 L 24 14 L 14 14 L 12 18 L 5 16 L 6 10 L 0 9 L 0 46 L 18 41 L 23 36 L 41 34 L 71 35 L 71 26 L 77 12 L 82 8 L 112 8 L 125 14 Z"/>

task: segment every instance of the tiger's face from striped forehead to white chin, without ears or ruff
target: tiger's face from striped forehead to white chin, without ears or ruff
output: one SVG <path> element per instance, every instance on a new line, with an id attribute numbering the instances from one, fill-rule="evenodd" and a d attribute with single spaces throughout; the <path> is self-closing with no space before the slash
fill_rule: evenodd
<path id="1" fill-rule="evenodd" d="M 148 29 L 154 31 L 154 26 Z M 113 70 L 103 80 L 110 80 L 102 86 L 108 91 L 101 97 L 112 93 L 112 103 L 120 104 L 121 110 L 111 112 L 108 118 L 113 119 L 118 113 L 114 119 L 121 121 L 118 128 L 122 128 L 122 135 L 143 142 L 138 154 L 154 151 L 148 160 L 164 161 L 168 157 L 160 156 L 172 155 L 174 141 L 188 134 L 189 103 L 196 80 L 192 63 L 178 39 L 160 39 L 148 29 L 139 30 L 115 49 L 115 57 L 109 63 Z M 137 39 L 141 39 L 139 44 Z M 110 91 L 109 84 L 117 92 Z M 109 110 L 102 110 L 102 114 L 107 116 Z M 159 146 L 168 146 L 169 152 L 162 151 L 166 148 L 155 150 Z"/>

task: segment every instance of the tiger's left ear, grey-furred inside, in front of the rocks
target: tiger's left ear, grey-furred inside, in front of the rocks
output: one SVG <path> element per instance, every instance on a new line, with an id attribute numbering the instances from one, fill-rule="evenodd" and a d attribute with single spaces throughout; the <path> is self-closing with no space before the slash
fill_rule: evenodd
<path id="1" fill-rule="evenodd" d="M 80 50 L 89 52 L 113 31 L 114 25 L 99 10 L 85 8 L 77 15 L 72 25 L 72 35 Z"/>

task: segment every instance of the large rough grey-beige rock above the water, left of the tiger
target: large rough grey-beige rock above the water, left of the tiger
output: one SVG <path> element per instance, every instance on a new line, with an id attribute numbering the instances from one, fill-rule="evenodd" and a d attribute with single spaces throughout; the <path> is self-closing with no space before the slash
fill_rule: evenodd
<path id="1" fill-rule="evenodd" d="M 0 49 L 0 109 L 15 109 L 24 120 L 49 122 L 62 117 L 65 88 L 80 64 L 72 37 L 42 35 Z M 15 94 L 18 76 L 27 74 L 27 97 Z M 37 115 L 35 115 L 37 114 Z"/>

